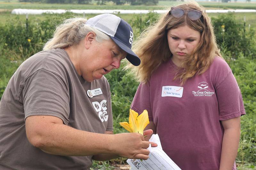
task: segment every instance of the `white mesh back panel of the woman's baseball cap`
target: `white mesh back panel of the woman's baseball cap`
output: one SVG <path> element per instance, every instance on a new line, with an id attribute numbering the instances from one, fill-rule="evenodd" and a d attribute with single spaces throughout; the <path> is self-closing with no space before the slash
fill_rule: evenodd
<path id="1" fill-rule="evenodd" d="M 87 20 L 85 25 L 89 25 L 107 35 L 114 37 L 121 18 L 113 14 L 101 14 Z"/>

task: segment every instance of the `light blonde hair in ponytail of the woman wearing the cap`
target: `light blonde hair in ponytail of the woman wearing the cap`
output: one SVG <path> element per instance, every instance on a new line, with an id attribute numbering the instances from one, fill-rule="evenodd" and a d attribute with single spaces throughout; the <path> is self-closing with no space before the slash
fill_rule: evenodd
<path id="1" fill-rule="evenodd" d="M 110 37 L 95 29 L 91 26 L 85 25 L 87 19 L 85 18 L 69 18 L 63 21 L 57 26 L 53 33 L 53 38 L 49 39 L 44 45 L 43 50 L 51 50 L 56 48 L 65 48 L 68 46 L 74 46 L 85 38 L 88 32 L 95 32 L 97 42 L 103 40 L 109 40 Z"/>

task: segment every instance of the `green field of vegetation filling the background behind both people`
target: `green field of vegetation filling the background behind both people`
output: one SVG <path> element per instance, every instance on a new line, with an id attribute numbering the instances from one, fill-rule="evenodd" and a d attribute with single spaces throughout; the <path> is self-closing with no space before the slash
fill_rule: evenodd
<path id="1" fill-rule="evenodd" d="M 161 4 L 162 3 L 162 4 Z M 87 9 L 162 9 L 164 3 L 159 1 L 158 6 L 131 6 L 131 5 L 88 5 Z M 232 3 L 206 3 L 202 5 L 214 8 L 230 8 Z M 237 6 L 256 8 L 255 3 L 235 3 Z M 14 8 L 28 9 L 84 9 L 83 5 L 76 4 L 31 4 L 10 3 L 0 1 L 0 99 L 5 87 L 17 67 L 28 57 L 42 50 L 42 45 L 51 38 L 56 24 L 64 18 L 75 14 L 42 14 L 12 15 Z M 234 5 L 234 8 L 236 6 Z M 217 42 L 223 57 L 231 67 L 241 89 L 246 115 L 241 117 L 241 139 L 236 159 L 238 170 L 256 169 L 256 13 L 227 13 L 210 14 L 215 28 Z M 86 14 L 88 18 L 96 14 Z M 150 23 L 154 22 L 159 14 L 117 14 L 132 25 L 135 38 L 138 37 Z M 244 23 L 244 16 L 246 17 Z M 250 28 L 249 28 L 250 24 Z M 223 31 L 222 25 L 225 26 Z M 245 25 L 245 26 L 244 26 Z M 135 39 L 136 41 L 136 39 Z M 124 64 L 122 64 L 124 66 Z M 138 82 L 126 75 L 125 71 L 114 70 L 106 75 L 112 92 L 112 109 L 114 118 L 114 133 L 125 132 L 119 122 L 128 121 L 129 108 L 136 92 Z M 116 159 L 108 162 L 93 163 L 94 169 L 114 169 L 112 164 L 125 163 L 125 159 Z"/>

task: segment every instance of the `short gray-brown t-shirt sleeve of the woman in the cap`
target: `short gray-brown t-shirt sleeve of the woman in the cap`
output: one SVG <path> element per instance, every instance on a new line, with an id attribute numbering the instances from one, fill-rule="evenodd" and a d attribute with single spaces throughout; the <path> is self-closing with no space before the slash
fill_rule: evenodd
<path id="1" fill-rule="evenodd" d="M 25 120 L 33 115 L 48 115 L 68 124 L 69 92 L 63 79 L 50 71 L 40 69 L 25 80 L 23 107 Z"/>

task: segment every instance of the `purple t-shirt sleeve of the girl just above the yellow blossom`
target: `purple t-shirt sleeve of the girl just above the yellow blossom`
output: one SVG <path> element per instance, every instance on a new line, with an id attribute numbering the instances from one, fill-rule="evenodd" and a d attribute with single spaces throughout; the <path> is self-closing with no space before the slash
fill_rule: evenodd
<path id="1" fill-rule="evenodd" d="M 153 114 L 150 104 L 149 83 L 140 83 L 133 98 L 131 109 L 139 113 L 139 115 L 143 112 L 143 110 L 147 110 L 149 121 L 153 121 Z"/>

